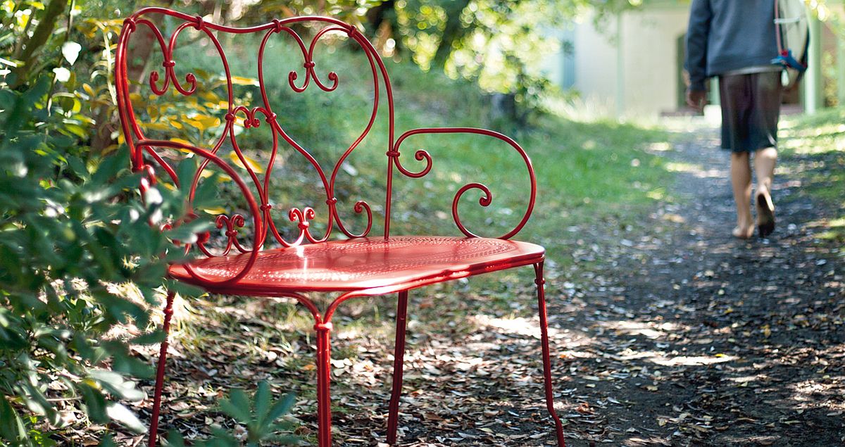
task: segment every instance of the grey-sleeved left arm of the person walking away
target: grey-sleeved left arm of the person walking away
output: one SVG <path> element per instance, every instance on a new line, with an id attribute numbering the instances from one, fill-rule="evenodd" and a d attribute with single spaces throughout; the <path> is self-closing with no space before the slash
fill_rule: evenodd
<path id="1" fill-rule="evenodd" d="M 690 25 L 687 27 L 684 68 L 690 74 L 687 103 L 697 108 L 701 108 L 706 99 L 704 81 L 707 78 L 707 36 L 710 34 L 712 16 L 710 0 L 693 0 Z"/>

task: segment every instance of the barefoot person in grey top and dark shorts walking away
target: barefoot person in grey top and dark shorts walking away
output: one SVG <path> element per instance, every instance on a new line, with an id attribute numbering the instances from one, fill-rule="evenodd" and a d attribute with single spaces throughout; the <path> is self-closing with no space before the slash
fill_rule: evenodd
<path id="1" fill-rule="evenodd" d="M 684 68 L 690 74 L 686 101 L 701 110 L 705 80 L 719 79 L 722 149 L 731 153 L 731 184 L 737 208 L 733 236 L 760 237 L 775 228 L 771 179 L 777 161 L 777 121 L 782 66 L 777 56 L 772 0 L 693 0 Z M 757 177 L 751 215 L 751 154 Z"/>

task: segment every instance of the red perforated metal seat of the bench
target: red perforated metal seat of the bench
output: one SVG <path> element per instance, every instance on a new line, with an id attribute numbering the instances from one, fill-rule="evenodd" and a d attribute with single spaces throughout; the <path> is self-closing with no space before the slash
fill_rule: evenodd
<path id="1" fill-rule="evenodd" d="M 248 274 L 234 287 L 238 294 L 278 292 L 361 291 L 390 286 L 420 286 L 543 260 L 545 250 L 533 243 L 488 237 L 394 236 L 275 248 L 259 253 Z M 210 279 L 232 277 L 249 255 L 194 260 L 191 266 Z M 177 280 L 213 289 L 195 281 L 183 265 L 174 264 Z M 232 286 L 210 292 L 232 292 Z"/>

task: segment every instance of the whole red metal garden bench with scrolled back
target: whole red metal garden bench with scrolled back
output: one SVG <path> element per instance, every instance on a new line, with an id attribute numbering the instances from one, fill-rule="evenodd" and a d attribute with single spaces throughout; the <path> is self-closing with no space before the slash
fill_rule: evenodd
<path id="1" fill-rule="evenodd" d="M 166 17 L 168 24 L 176 24 L 169 39 L 162 35 L 157 23 Z M 127 78 L 129 41 L 141 29 L 147 29 L 153 35 L 153 45 L 163 52 L 163 68 L 153 69 L 149 77 L 149 89 L 154 95 L 164 95 L 171 87 L 183 96 L 193 95 L 198 90 L 197 79 L 194 74 L 187 74 L 185 83 L 177 79 L 173 60 L 177 37 L 183 30 L 193 29 L 201 33 L 213 43 L 212 51 L 216 49 L 225 70 L 228 104 L 226 116 L 221 121 L 222 131 L 216 144 L 202 148 L 178 139 L 152 139 L 145 136 L 144 124 L 139 123 L 144 112 L 139 111 L 138 104 L 134 104 L 134 86 Z M 302 30 L 311 32 L 310 42 L 300 36 Z M 299 31 L 299 32 L 297 32 Z M 221 33 L 255 34 L 263 36 L 258 53 L 259 87 L 261 92 L 261 106 L 248 108 L 239 106 L 232 94 L 232 74 L 226 54 L 218 40 Z M 324 91 L 335 90 L 339 77 L 334 72 L 328 74 L 330 83 L 320 80 L 315 70 L 313 53 L 315 44 L 326 35 L 341 35 L 350 42 L 357 42 L 372 71 L 374 86 L 373 114 L 368 127 L 362 136 L 349 145 L 348 149 L 335 162 L 331 172 L 324 172 L 319 163 L 302 145 L 286 134 L 285 129 L 276 119 L 273 105 L 264 89 L 264 50 L 267 42 L 274 35 L 292 38 L 302 52 L 304 79 L 297 81 L 300 76 L 295 71 L 288 74 L 288 82 L 292 90 L 302 92 L 309 85 L 316 84 L 316 88 Z M 532 243 L 511 240 L 526 224 L 535 204 L 537 183 L 531 161 L 514 140 L 496 132 L 480 128 L 418 128 L 401 134 L 395 138 L 393 92 L 384 62 L 373 45 L 355 26 L 348 25 L 336 19 L 327 17 L 295 17 L 284 20 L 274 20 L 266 25 L 248 28 L 232 28 L 215 25 L 201 17 L 192 17 L 164 8 L 144 8 L 125 20 L 120 40 L 117 44 L 115 59 L 115 79 L 117 85 L 117 105 L 123 125 L 123 135 L 131 150 L 134 170 L 145 172 L 141 189 L 144 195 L 155 188 L 157 183 L 170 183 L 179 186 L 175 161 L 180 157 L 195 155 L 201 160 L 199 168 L 194 172 L 193 182 L 183 184 L 181 188 L 190 188 L 191 197 L 204 177 L 204 171 L 215 167 L 218 171 L 231 177 L 237 184 L 239 194 L 243 194 L 243 214 L 221 214 L 216 216 L 215 224 L 224 235 L 222 249 L 215 251 L 211 248 L 209 233 L 199 235 L 193 244 L 185 244 L 186 249 L 197 250 L 203 259 L 194 259 L 185 264 L 174 264 L 168 274 L 178 281 L 184 281 L 212 293 L 247 295 L 254 297 L 291 297 L 302 303 L 313 316 L 314 330 L 317 338 L 317 401 L 319 422 L 319 445 L 331 445 L 331 415 L 330 415 L 330 332 L 332 330 L 332 316 L 341 303 L 356 297 L 372 297 L 388 293 L 398 293 L 396 311 L 395 335 L 395 363 L 393 369 L 393 390 L 390 399 L 390 410 L 387 427 L 387 442 L 395 443 L 396 425 L 398 420 L 399 397 L 402 386 L 402 357 L 405 351 L 406 308 L 408 291 L 442 281 L 464 278 L 495 270 L 510 269 L 531 265 L 536 274 L 537 303 L 542 335 L 542 366 L 545 378 L 546 406 L 550 413 L 554 430 L 560 446 L 564 445 L 563 426 L 554 411 L 552 372 L 548 348 L 548 329 L 546 318 L 546 304 L 543 294 L 543 259 L 544 249 Z M 295 82 L 296 81 L 296 82 Z M 298 83 L 298 84 L 297 84 Z M 379 97 L 379 87 L 386 92 L 386 98 Z M 386 103 L 386 104 L 384 104 Z M 373 128 L 373 121 L 379 112 L 379 106 L 386 109 L 389 123 L 388 147 L 386 148 L 386 198 L 384 199 L 384 233 L 371 236 L 373 227 L 373 212 L 370 206 L 357 201 L 354 210 L 358 215 L 366 215 L 366 229 L 353 233 L 341 220 L 338 212 L 338 199 L 335 194 L 335 177 L 337 177 L 342 163 Z M 273 135 L 272 153 L 266 172 L 254 169 L 244 158 L 243 151 L 237 144 L 236 127 L 259 127 L 260 118 L 270 127 Z M 243 120 L 243 121 L 241 121 Z M 417 134 L 478 134 L 510 144 L 510 147 L 525 162 L 527 174 L 530 177 L 531 190 L 527 194 L 525 214 L 518 224 L 509 232 L 498 238 L 478 237 L 470 232 L 458 215 L 458 204 L 461 196 L 470 189 L 480 190 L 483 194 L 480 204 L 488 206 L 491 201 L 489 189 L 481 183 L 468 183 L 460 188 L 452 202 L 452 216 L 455 224 L 465 237 L 442 236 L 394 236 L 390 233 L 390 205 L 394 172 L 398 171 L 408 177 L 423 177 L 432 168 L 432 158 L 424 150 L 417 150 L 417 161 L 423 161 L 425 166 L 418 172 L 412 172 L 401 164 L 400 146 L 408 137 Z M 327 228 L 324 235 L 313 235 L 310 232 L 309 221 L 312 221 L 316 211 L 312 208 L 291 208 L 288 214 L 298 233 L 294 240 L 286 240 L 280 231 L 281 223 L 276 222 L 270 215 L 270 210 L 277 204 L 270 203 L 270 183 L 272 163 L 280 149 L 279 142 L 293 154 L 305 157 L 319 176 L 321 191 L 327 208 Z M 229 145 L 231 144 L 231 147 Z M 240 177 L 238 170 L 219 156 L 221 147 L 232 150 L 241 161 L 239 169 L 248 175 Z M 245 170 L 243 169 L 245 168 Z M 164 172 L 163 177 L 161 172 Z M 183 182 L 184 183 L 184 182 Z M 230 183 L 231 184 L 231 183 Z M 257 194 L 253 193 L 256 192 Z M 242 211 L 243 212 L 243 211 Z M 194 213 L 189 213 L 196 218 Z M 169 225 L 175 225 L 171 222 Z M 279 225 L 279 227 L 277 227 Z M 342 240 L 330 240 L 335 228 L 345 237 Z M 239 230 L 252 230 L 248 241 L 243 240 Z M 275 248 L 271 248 L 275 245 Z M 307 292 L 335 292 L 337 297 L 326 308 L 319 308 L 317 303 L 306 297 Z M 165 320 L 163 330 L 170 330 L 172 316 L 172 302 L 174 293 L 167 296 Z M 150 445 L 157 440 L 157 426 L 159 409 L 161 406 L 161 388 L 165 375 L 167 341 L 161 344 L 155 379 L 155 396 L 153 413 L 150 422 Z"/>

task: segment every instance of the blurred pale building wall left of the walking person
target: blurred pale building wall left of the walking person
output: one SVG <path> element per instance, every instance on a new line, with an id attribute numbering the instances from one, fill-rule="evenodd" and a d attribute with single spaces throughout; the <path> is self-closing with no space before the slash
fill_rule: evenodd
<path id="1" fill-rule="evenodd" d="M 624 13 L 621 29 L 617 17 L 599 25 L 583 17 L 571 29 L 554 33 L 562 50 L 548 59 L 545 71 L 561 88 L 577 90 L 583 105 L 600 114 L 657 116 L 676 110 L 678 38 L 688 17 L 688 6 L 652 7 Z M 563 50 L 567 47 L 569 54 Z"/>

